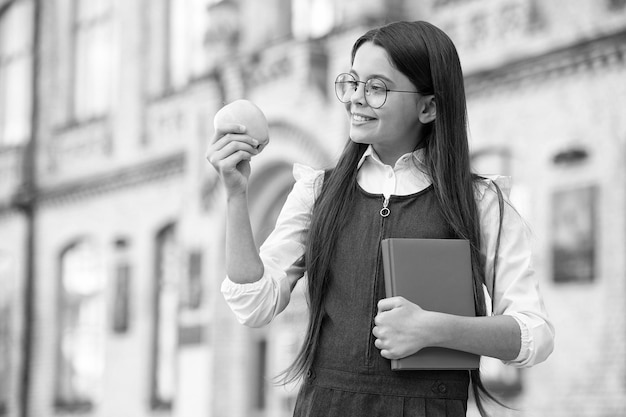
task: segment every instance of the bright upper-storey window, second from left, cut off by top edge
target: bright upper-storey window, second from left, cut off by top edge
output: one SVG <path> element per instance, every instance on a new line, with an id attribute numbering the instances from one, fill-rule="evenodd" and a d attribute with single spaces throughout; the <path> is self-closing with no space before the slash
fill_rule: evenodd
<path id="1" fill-rule="evenodd" d="M 111 0 L 74 0 L 72 114 L 76 120 L 106 115 L 113 88 Z"/>

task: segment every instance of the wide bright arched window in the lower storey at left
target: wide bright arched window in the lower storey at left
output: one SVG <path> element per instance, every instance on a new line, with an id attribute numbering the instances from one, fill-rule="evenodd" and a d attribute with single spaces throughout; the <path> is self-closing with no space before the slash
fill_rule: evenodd
<path id="1" fill-rule="evenodd" d="M 89 410 L 100 396 L 104 371 L 105 281 L 87 241 L 60 259 L 56 406 Z"/>

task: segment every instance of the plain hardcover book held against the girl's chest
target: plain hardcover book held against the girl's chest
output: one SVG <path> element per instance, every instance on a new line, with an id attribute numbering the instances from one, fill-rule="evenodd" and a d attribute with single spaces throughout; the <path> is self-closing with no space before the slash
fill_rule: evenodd
<path id="1" fill-rule="evenodd" d="M 469 242 L 464 239 L 383 239 L 387 297 L 402 296 L 424 310 L 476 316 Z M 477 369 L 480 356 L 427 347 L 391 361 L 393 370 Z"/>

